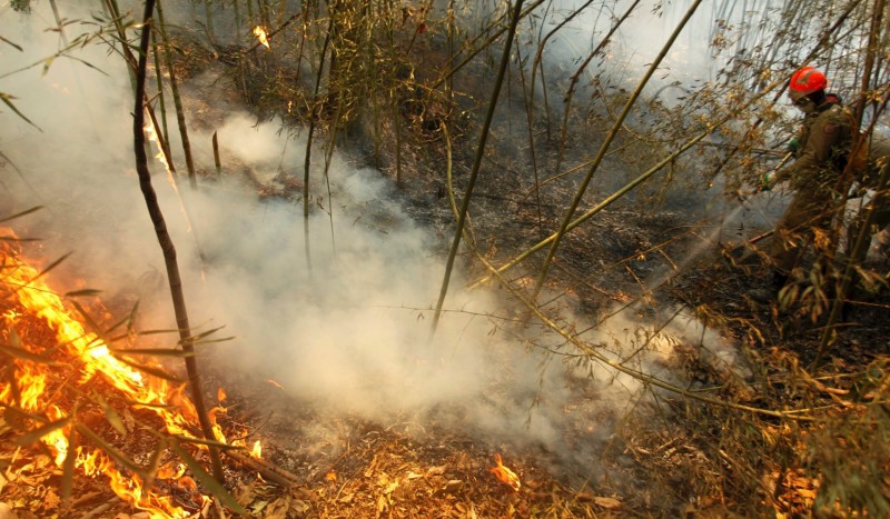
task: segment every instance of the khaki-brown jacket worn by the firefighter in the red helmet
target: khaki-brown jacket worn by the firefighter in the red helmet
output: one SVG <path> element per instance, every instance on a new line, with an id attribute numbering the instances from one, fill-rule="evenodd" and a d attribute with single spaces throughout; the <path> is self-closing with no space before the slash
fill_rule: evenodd
<path id="1" fill-rule="evenodd" d="M 808 113 L 798 136 L 794 162 L 780 170 L 774 182 L 790 181 L 794 190 L 835 191 L 853 141 L 852 113 L 834 102 Z"/>

